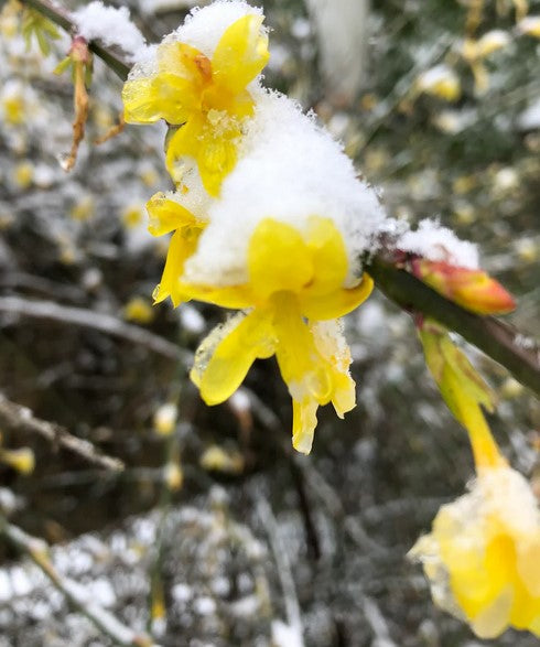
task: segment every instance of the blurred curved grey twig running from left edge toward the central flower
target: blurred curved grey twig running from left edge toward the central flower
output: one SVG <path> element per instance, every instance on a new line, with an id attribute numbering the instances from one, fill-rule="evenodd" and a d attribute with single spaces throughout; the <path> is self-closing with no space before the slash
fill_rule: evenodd
<path id="1" fill-rule="evenodd" d="M 60 305 L 54 301 L 35 301 L 21 296 L 0 296 L 0 312 L 93 328 L 107 335 L 127 339 L 138 346 L 144 346 L 170 359 L 181 360 L 186 364 L 192 362 L 191 353 L 179 348 L 179 346 L 163 337 L 139 326 L 128 324 L 110 314 L 86 308 Z"/>

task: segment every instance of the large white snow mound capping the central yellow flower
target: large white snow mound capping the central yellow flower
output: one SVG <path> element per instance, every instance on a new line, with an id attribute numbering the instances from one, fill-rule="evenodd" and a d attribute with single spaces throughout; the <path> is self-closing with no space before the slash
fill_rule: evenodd
<path id="1" fill-rule="evenodd" d="M 372 248 L 386 219 L 375 191 L 357 179 L 342 147 L 312 116 L 283 95 L 260 91 L 238 149 L 238 163 L 208 209 L 209 225 L 186 262 L 190 283 L 233 285 L 247 281 L 251 235 L 266 218 L 305 234 L 312 216 L 332 220 L 349 262 Z"/>

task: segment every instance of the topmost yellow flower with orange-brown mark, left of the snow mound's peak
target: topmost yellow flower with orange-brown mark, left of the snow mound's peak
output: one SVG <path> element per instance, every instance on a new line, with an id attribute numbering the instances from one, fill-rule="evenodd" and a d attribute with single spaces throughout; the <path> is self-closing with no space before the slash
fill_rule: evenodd
<path id="1" fill-rule="evenodd" d="M 166 166 L 180 181 L 177 161 L 193 158 L 206 191 L 216 196 L 237 160 L 242 121 L 253 112 L 246 89 L 269 58 L 263 17 L 248 14 L 223 34 L 212 61 L 180 42 L 158 47 L 156 73 L 131 78 L 123 86 L 127 122 L 165 119 L 180 128 L 166 142 Z"/>

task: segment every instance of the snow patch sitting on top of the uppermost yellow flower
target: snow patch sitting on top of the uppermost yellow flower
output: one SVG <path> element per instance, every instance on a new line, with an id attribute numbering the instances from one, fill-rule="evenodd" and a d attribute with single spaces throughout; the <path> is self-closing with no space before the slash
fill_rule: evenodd
<path id="1" fill-rule="evenodd" d="M 217 0 L 203 9 L 193 9 L 183 25 L 165 41 L 180 41 L 212 57 L 225 30 L 244 15 L 262 15 L 262 10 L 247 2 Z"/>

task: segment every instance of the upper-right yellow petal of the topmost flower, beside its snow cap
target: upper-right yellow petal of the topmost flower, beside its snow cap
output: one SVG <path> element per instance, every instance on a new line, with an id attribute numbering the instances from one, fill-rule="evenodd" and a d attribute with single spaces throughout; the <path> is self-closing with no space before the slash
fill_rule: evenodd
<path id="1" fill-rule="evenodd" d="M 233 93 L 241 91 L 268 63 L 268 36 L 262 15 L 244 15 L 224 33 L 212 58 L 213 80 Z"/>

